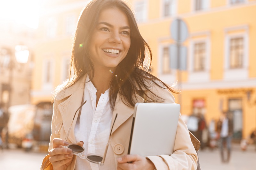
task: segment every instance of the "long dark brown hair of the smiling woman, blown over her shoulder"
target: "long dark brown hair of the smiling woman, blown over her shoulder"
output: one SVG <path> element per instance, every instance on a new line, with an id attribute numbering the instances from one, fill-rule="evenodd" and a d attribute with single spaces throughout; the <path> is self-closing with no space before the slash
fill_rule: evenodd
<path id="1" fill-rule="evenodd" d="M 140 35 L 131 8 L 122 0 L 92 0 L 84 7 L 79 16 L 73 41 L 70 70 L 73 66 L 74 75 L 72 76 L 70 71 L 67 83 L 57 88 L 56 93 L 73 85 L 86 73 L 92 80 L 94 67 L 87 47 L 92 38 L 92 31 L 98 24 L 100 12 L 108 8 L 117 8 L 123 11 L 131 27 L 131 46 L 126 57 L 117 65 L 116 73 L 118 73 L 118 76 L 113 76 L 110 82 L 109 100 L 111 108 L 114 109 L 118 92 L 121 94 L 124 103 L 130 107 L 134 107 L 136 104 L 135 93 L 147 97 L 148 100 L 161 100 L 162 98 L 150 91 L 150 84 L 152 83 L 166 88 L 170 92 L 179 93 L 148 72 L 152 60 L 151 50 Z M 116 75 L 116 73 L 113 73 L 113 75 Z M 144 91 L 145 89 L 154 96 L 154 99 L 150 98 Z"/>

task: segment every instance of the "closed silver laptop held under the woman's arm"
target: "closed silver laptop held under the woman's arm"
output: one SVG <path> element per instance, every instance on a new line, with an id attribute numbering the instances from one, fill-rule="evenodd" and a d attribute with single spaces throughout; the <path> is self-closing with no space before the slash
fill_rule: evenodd
<path id="1" fill-rule="evenodd" d="M 134 108 L 128 154 L 140 156 L 173 153 L 180 105 L 137 103 Z"/>

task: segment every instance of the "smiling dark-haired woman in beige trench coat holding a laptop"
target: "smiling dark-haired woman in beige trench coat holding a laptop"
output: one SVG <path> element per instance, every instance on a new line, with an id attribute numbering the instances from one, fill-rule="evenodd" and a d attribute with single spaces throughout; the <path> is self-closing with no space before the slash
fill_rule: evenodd
<path id="1" fill-rule="evenodd" d="M 146 71 L 151 64 L 151 51 L 127 4 L 121 0 L 93 0 L 84 8 L 77 24 L 71 63 L 74 78 L 60 86 L 54 98 L 48 156 L 54 170 L 196 169 L 196 150 L 181 116 L 171 156 L 127 155 L 134 105 L 145 99 L 174 103 L 171 92 L 175 92 Z M 67 142 L 63 139 L 76 109 L 85 100 L 74 117 Z M 77 143 L 84 146 L 85 155 L 103 155 L 116 113 L 104 166 L 80 159 L 63 148 Z"/>

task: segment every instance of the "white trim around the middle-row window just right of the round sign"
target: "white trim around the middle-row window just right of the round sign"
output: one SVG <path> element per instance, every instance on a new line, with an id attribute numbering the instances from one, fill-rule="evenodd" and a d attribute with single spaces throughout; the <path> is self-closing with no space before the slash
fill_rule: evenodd
<path id="1" fill-rule="evenodd" d="M 205 33 L 196 33 L 195 35 L 205 35 Z M 207 33 L 208 34 L 208 33 Z M 191 34 L 193 36 L 193 33 Z M 188 55 L 188 82 L 208 82 L 210 81 L 210 58 L 211 58 L 211 40 L 210 35 L 206 38 L 191 39 L 189 41 L 189 55 Z M 198 42 L 205 42 L 205 70 L 194 71 L 194 45 Z"/>

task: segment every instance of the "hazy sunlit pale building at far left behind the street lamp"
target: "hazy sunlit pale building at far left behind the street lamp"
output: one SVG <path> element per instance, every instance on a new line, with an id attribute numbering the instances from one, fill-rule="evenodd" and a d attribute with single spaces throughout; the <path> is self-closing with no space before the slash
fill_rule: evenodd
<path id="1" fill-rule="evenodd" d="M 35 30 L 9 21 L 0 23 L 0 103 L 30 104 Z"/>

